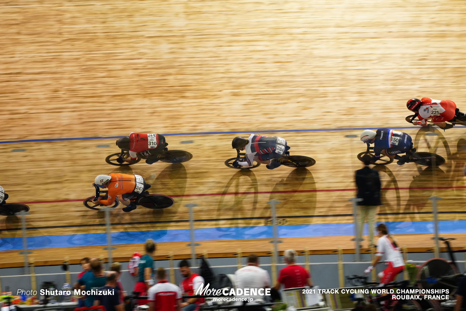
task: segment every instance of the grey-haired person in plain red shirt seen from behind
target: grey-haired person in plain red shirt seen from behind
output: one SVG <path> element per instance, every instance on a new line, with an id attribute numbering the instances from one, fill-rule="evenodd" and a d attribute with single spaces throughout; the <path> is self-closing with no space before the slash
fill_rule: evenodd
<path id="1" fill-rule="evenodd" d="M 283 259 L 287 266 L 280 270 L 274 289 L 280 290 L 281 284 L 284 285 L 284 288 L 313 286 L 308 270 L 295 263 L 296 256 L 297 253 L 294 249 L 285 250 Z"/>

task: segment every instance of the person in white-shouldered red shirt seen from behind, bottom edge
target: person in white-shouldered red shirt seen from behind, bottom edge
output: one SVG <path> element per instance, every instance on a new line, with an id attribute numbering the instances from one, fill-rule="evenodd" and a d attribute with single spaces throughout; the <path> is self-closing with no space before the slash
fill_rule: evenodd
<path id="1" fill-rule="evenodd" d="M 167 281 L 163 267 L 157 269 L 157 280 L 147 291 L 149 311 L 180 311 L 181 289 Z"/>

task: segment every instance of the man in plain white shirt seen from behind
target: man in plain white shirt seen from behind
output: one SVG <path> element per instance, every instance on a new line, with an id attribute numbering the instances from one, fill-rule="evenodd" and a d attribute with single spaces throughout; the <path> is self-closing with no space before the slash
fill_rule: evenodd
<path id="1" fill-rule="evenodd" d="M 248 295 L 239 295 L 236 296 L 237 298 L 252 298 L 252 299 L 264 299 L 265 294 L 264 290 L 259 289 L 266 289 L 270 287 L 270 277 L 268 276 L 268 272 L 262 268 L 259 268 L 259 258 L 256 255 L 251 254 L 247 256 L 247 266 L 243 267 L 235 272 L 236 276 L 236 289 L 242 289 L 244 293 L 244 289 L 257 289 L 258 293 L 254 295 L 254 290 L 252 290 L 253 295 L 249 292 Z M 259 292 L 262 295 L 259 295 Z"/>

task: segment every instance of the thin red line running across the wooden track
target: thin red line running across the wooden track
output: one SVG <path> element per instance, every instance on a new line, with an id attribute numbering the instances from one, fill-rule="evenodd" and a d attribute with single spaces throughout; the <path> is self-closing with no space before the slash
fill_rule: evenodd
<path id="1" fill-rule="evenodd" d="M 466 189 L 466 186 L 452 187 L 393 187 L 382 188 L 382 190 L 421 190 L 421 189 Z M 237 194 L 293 194 L 293 193 L 311 193 L 311 192 L 336 192 L 336 191 L 356 191 L 356 188 L 347 189 L 312 189 L 312 190 L 284 190 L 284 191 L 256 191 L 256 192 L 219 192 L 214 194 L 173 194 L 172 198 L 178 197 L 198 197 L 198 196 L 216 196 L 216 195 L 237 195 Z M 82 202 L 84 199 L 77 200 L 53 200 L 53 201 L 32 201 L 32 202 L 16 202 L 22 204 L 38 204 L 38 203 L 60 203 L 60 202 Z"/>

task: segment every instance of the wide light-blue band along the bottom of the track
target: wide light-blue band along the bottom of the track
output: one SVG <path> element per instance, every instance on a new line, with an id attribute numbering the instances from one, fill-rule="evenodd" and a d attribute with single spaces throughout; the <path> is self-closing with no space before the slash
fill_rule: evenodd
<path id="1" fill-rule="evenodd" d="M 432 234 L 434 232 L 432 221 L 396 221 L 386 223 L 391 234 Z M 59 231 L 58 231 L 59 232 Z M 439 221 L 439 232 L 465 233 L 466 220 Z M 353 223 L 327 223 L 307 225 L 278 226 L 278 236 L 309 237 L 309 236 L 341 236 L 353 235 Z M 367 226 L 363 232 L 367 235 Z M 156 242 L 187 242 L 190 241 L 189 229 L 151 230 L 151 231 L 125 231 L 112 232 L 113 244 L 144 243 L 146 239 Z M 195 229 L 197 241 L 237 240 L 237 239 L 264 239 L 272 238 L 272 226 L 256 227 L 221 227 Z M 28 249 L 46 249 L 72 246 L 106 245 L 105 233 L 88 233 L 76 235 L 45 235 L 27 237 Z M 1 250 L 22 249 L 22 238 L 1 238 Z"/>

